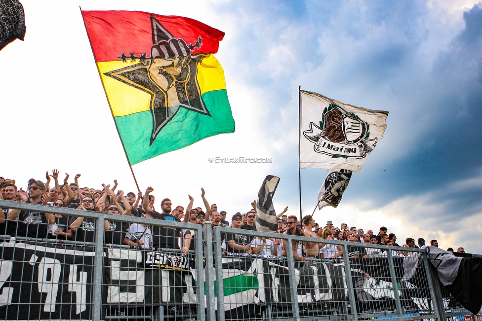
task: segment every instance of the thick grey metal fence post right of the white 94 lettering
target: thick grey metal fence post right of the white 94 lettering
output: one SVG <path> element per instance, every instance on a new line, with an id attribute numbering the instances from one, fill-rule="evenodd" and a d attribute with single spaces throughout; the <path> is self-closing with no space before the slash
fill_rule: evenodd
<path id="1" fill-rule="evenodd" d="M 92 284 L 92 321 L 101 320 L 102 270 L 104 265 L 104 223 L 105 214 L 99 213 L 95 230 L 94 280 Z"/>

